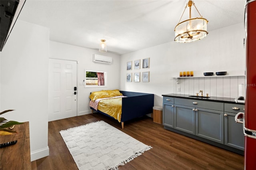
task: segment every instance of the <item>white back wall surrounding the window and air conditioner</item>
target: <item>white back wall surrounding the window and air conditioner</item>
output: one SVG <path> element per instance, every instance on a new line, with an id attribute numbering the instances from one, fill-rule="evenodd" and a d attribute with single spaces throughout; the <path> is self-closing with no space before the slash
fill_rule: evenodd
<path id="1" fill-rule="evenodd" d="M 92 54 L 112 57 L 111 64 L 92 62 Z M 91 113 L 89 95 L 92 91 L 119 89 L 120 55 L 100 53 L 98 50 L 50 41 L 50 57 L 78 61 L 78 115 Z M 84 71 L 106 71 L 107 87 L 84 88 Z"/>

